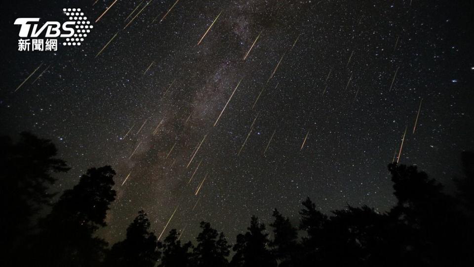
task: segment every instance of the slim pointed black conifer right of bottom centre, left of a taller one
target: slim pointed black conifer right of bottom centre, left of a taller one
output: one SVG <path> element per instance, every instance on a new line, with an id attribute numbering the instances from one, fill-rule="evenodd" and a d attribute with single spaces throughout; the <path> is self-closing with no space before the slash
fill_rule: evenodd
<path id="1" fill-rule="evenodd" d="M 283 217 L 277 209 L 273 211 L 275 221 L 270 224 L 273 227 L 274 239 L 270 241 L 270 247 L 274 257 L 280 261 L 279 266 L 296 266 L 298 257 L 298 232 L 291 225 L 288 218 Z"/>

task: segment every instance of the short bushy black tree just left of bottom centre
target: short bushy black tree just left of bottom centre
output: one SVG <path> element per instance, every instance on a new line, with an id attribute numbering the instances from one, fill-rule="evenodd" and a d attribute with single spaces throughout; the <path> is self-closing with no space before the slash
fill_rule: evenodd
<path id="1" fill-rule="evenodd" d="M 224 233 L 211 228 L 210 223 L 201 222 L 202 231 L 197 235 L 197 246 L 194 248 L 194 264 L 197 267 L 224 267 L 229 264 L 230 254 Z"/>

